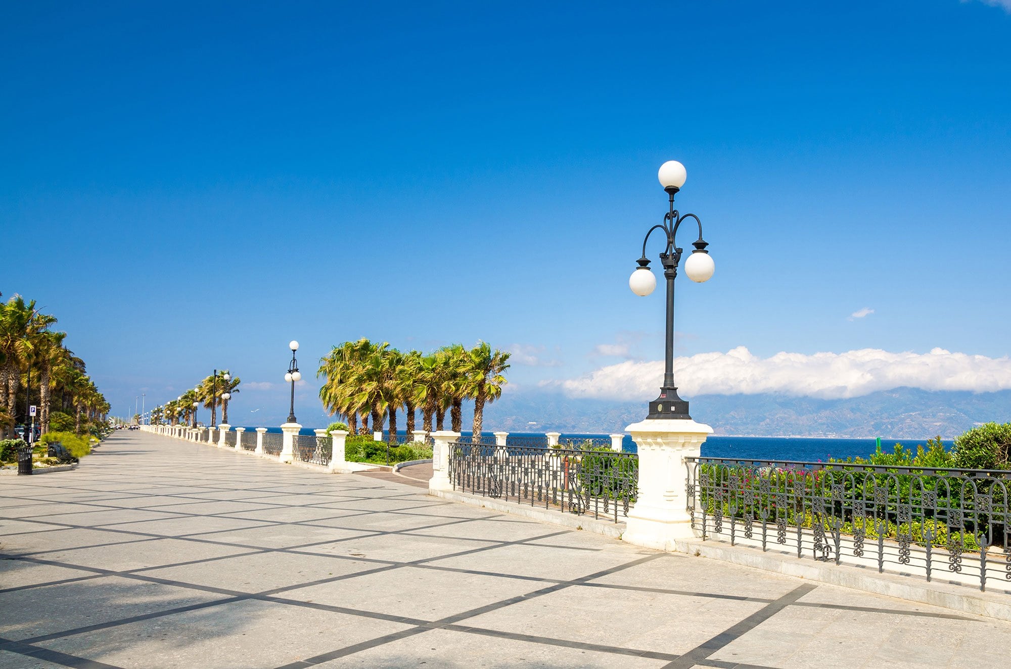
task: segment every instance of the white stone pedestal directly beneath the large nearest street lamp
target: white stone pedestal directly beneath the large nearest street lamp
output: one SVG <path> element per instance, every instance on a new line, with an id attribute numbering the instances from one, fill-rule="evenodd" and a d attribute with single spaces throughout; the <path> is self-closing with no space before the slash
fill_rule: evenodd
<path id="1" fill-rule="evenodd" d="M 702 454 L 713 428 L 691 419 L 647 418 L 626 429 L 639 449 L 639 491 L 622 540 L 672 551 L 676 540 L 693 537 L 684 458 Z"/>

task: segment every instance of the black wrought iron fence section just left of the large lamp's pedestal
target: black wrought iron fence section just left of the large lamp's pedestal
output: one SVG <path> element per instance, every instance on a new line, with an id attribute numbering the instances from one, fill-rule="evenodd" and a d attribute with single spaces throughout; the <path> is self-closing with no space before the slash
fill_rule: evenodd
<path id="1" fill-rule="evenodd" d="M 457 442 L 450 445 L 449 474 L 454 489 L 618 522 L 636 499 L 639 457 Z"/>

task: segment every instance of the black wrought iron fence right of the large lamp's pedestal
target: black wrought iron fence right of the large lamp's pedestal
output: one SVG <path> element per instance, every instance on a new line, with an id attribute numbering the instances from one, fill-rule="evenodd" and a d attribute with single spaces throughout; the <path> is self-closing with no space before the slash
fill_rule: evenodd
<path id="1" fill-rule="evenodd" d="M 1011 586 L 1011 472 L 686 458 L 692 527 L 797 557 Z"/>

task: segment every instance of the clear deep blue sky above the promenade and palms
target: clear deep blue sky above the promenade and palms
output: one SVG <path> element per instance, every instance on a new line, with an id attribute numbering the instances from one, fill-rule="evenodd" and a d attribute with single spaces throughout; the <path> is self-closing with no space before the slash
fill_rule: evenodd
<path id="1" fill-rule="evenodd" d="M 7 7 L 0 291 L 115 409 L 228 367 L 281 419 L 290 339 L 563 385 L 662 358 L 627 280 L 676 159 L 717 268 L 679 356 L 1007 357 L 1008 3 L 824 4 Z"/>

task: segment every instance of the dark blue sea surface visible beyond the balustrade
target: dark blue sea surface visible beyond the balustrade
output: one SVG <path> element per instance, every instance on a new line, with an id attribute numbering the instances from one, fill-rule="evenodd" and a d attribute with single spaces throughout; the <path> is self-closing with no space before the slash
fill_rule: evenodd
<path id="1" fill-rule="evenodd" d="M 247 427 L 253 432 L 255 427 Z M 281 434 L 280 427 L 267 427 L 268 433 Z M 311 427 L 302 427 L 300 435 L 312 436 Z M 403 435 L 404 433 L 398 433 Z M 469 436 L 469 433 L 464 433 Z M 481 433 L 483 437 L 493 439 L 492 433 Z M 511 437 L 544 438 L 544 433 L 510 433 Z M 579 439 L 607 439 L 608 435 L 587 433 L 562 433 L 559 441 Z M 882 450 L 892 453 L 896 444 L 916 450 L 917 446 L 926 447 L 927 439 L 886 439 L 882 438 Z M 944 448 L 950 450 L 953 443 L 943 442 Z M 630 435 L 622 442 L 623 450 L 635 453 L 636 445 Z M 706 458 L 735 458 L 741 460 L 796 460 L 802 462 L 827 461 L 830 458 L 865 458 L 875 452 L 877 441 L 874 439 L 823 439 L 815 437 L 710 437 L 702 446 L 702 455 Z"/>

